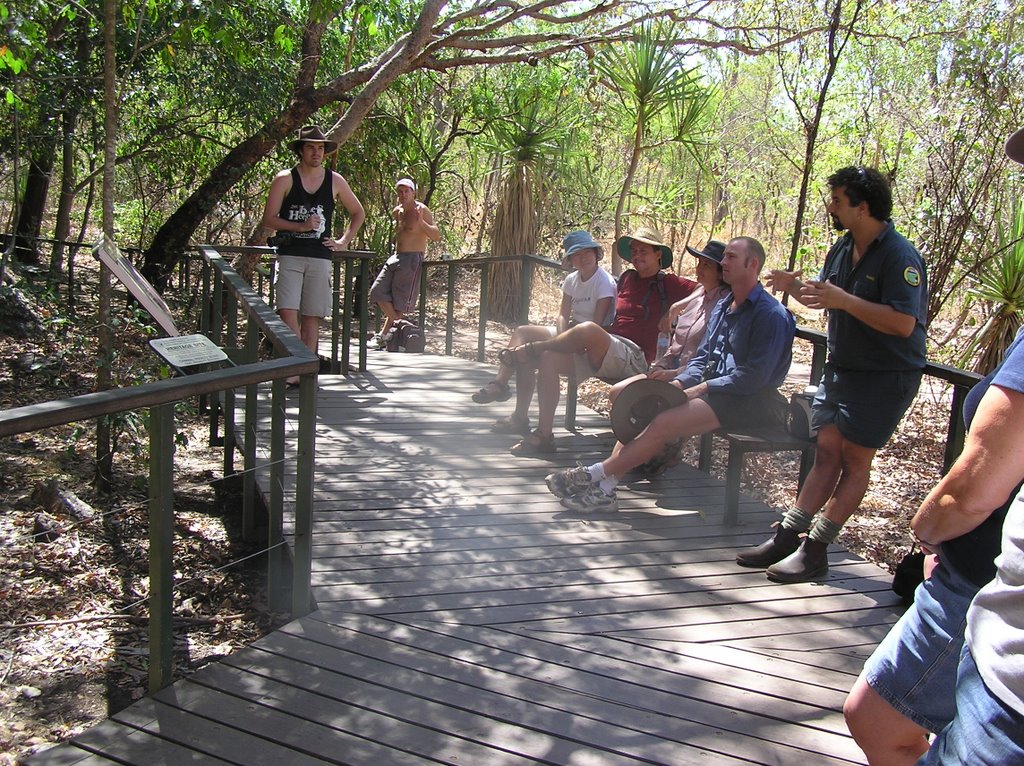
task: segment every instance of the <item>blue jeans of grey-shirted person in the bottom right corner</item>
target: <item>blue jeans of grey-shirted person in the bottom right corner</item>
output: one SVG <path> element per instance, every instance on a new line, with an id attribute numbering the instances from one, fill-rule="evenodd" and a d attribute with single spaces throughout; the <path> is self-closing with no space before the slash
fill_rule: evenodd
<path id="1" fill-rule="evenodd" d="M 1024 716 L 985 686 L 971 648 L 964 647 L 956 677 L 956 717 L 935 737 L 918 766 L 1009 766 L 1024 763 Z"/>

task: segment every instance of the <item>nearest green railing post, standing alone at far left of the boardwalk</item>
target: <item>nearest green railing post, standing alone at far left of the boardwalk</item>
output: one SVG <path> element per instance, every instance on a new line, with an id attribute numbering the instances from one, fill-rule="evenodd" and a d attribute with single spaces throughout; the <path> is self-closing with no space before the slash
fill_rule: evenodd
<path id="1" fill-rule="evenodd" d="M 150 410 L 150 692 L 174 675 L 174 403 Z"/>

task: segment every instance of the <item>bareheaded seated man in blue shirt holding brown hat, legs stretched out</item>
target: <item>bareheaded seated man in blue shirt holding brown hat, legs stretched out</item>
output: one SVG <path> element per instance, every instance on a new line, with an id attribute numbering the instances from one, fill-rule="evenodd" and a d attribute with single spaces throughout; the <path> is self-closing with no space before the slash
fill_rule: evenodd
<path id="1" fill-rule="evenodd" d="M 722 258 L 731 292 L 712 311 L 700 348 L 672 381 L 686 403 L 666 410 L 628 444 L 589 468 L 578 466 L 546 479 L 562 505 L 575 511 L 613 511 L 615 486 L 627 471 L 680 438 L 716 428 L 781 425 L 786 402 L 778 386 L 790 370 L 796 322 L 758 282 L 765 251 L 757 240 L 737 237 Z"/>

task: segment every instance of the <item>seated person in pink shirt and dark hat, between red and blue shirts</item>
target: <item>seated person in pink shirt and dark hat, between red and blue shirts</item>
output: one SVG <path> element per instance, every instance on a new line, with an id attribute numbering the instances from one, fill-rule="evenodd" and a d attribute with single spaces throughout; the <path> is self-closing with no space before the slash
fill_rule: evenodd
<path id="1" fill-rule="evenodd" d="M 631 378 L 615 383 L 608 391 L 608 399 L 615 402 L 618 394 L 630 383 L 642 378 L 653 380 L 673 380 L 679 375 L 680 368 L 686 367 L 696 352 L 708 328 L 708 317 L 715 304 L 729 292 L 729 286 L 722 278 L 722 257 L 725 255 L 725 245 L 711 240 L 703 250 L 696 250 L 689 245 L 686 251 L 696 260 L 695 273 L 698 290 L 672 304 L 669 309 L 669 324 L 674 328 L 669 350 L 659 359 L 654 359 L 646 375 L 634 375 Z"/>

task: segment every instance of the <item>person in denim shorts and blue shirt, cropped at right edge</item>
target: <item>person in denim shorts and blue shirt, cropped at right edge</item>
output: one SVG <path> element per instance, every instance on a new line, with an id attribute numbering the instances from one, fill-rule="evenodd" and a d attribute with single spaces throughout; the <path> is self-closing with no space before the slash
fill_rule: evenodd
<path id="1" fill-rule="evenodd" d="M 1024 163 L 1024 131 L 1015 135 L 1018 143 L 1012 136 L 1007 154 Z M 956 714 L 968 607 L 995 576 L 1004 519 L 1024 480 L 1024 330 L 1002 364 L 971 389 L 964 421 L 964 452 L 911 522 L 923 546 L 937 554 L 930 557 L 934 565 L 844 706 L 871 766 L 916 763 L 929 732 L 942 731 Z"/>

